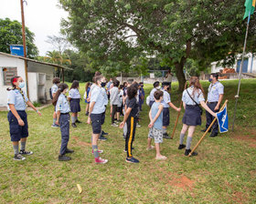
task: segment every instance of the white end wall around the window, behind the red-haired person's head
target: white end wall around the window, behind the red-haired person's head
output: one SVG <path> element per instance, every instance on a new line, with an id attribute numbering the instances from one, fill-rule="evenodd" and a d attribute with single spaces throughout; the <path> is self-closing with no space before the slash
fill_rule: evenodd
<path id="1" fill-rule="evenodd" d="M 0 107 L 7 106 L 8 91 L 6 90 L 6 88 L 9 86 L 4 86 L 4 76 L 2 67 L 8 66 L 16 67 L 17 75 L 25 78 L 25 65 L 22 59 L 0 55 Z"/>

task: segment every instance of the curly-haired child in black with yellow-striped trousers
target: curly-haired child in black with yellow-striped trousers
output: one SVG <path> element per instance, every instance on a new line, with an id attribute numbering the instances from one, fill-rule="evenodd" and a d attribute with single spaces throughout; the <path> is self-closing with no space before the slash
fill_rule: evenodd
<path id="1" fill-rule="evenodd" d="M 120 128 L 123 128 L 124 124 L 127 124 L 127 134 L 125 138 L 125 150 L 127 150 L 126 162 L 129 163 L 139 163 L 140 161 L 136 158 L 133 158 L 133 140 L 135 137 L 136 123 L 137 123 L 137 114 L 138 114 L 138 103 L 136 100 L 137 95 L 137 86 L 131 85 L 127 88 L 127 99 L 125 114 L 123 117 L 123 122 L 120 124 Z"/>

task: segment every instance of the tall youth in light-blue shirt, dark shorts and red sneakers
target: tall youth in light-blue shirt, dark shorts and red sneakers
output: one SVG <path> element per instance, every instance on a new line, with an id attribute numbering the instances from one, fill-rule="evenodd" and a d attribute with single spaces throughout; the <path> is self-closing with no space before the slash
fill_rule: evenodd
<path id="1" fill-rule="evenodd" d="M 106 82 L 103 76 L 95 76 L 94 79 L 96 87 L 94 87 L 91 91 L 91 103 L 87 123 L 91 124 L 92 126 L 91 146 L 95 163 L 105 164 L 108 162 L 108 160 L 99 156 L 99 153 L 102 153 L 102 150 L 98 149 L 98 139 L 101 134 L 101 124 L 106 109 L 105 93 L 103 92 L 101 85 L 105 85 Z"/>

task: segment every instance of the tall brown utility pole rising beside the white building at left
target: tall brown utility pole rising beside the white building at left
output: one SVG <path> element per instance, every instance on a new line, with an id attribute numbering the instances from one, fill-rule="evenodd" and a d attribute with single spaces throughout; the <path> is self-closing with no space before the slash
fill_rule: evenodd
<path id="1" fill-rule="evenodd" d="M 26 76 L 26 85 L 27 85 L 27 97 L 29 99 L 29 91 L 28 91 L 28 76 L 27 76 L 27 47 L 26 47 L 26 30 L 25 30 L 25 18 L 24 18 L 24 8 L 23 3 L 26 2 L 24 0 L 20 0 L 21 7 L 21 20 L 22 20 L 22 38 L 23 38 L 23 49 L 24 49 L 24 64 L 25 64 L 25 76 Z M 27 3 L 27 2 L 26 2 Z"/>

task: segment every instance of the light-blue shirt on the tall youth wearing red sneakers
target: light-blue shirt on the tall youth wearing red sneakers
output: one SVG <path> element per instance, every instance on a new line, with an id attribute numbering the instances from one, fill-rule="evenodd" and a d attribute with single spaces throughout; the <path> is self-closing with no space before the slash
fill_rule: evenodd
<path id="1" fill-rule="evenodd" d="M 101 87 L 94 87 L 91 91 L 91 102 L 95 102 L 95 105 L 91 111 L 92 114 L 101 114 L 105 112 L 105 97 Z"/>

